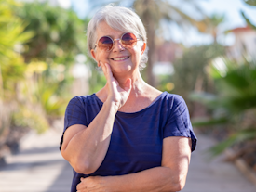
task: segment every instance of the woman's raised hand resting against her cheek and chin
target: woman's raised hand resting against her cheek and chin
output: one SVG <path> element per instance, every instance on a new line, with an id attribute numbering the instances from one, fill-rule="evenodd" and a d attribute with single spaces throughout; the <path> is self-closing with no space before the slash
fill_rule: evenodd
<path id="1" fill-rule="evenodd" d="M 128 100 L 128 96 L 131 90 L 131 79 L 128 78 L 124 86 L 121 87 L 113 76 L 110 65 L 108 63 L 102 63 L 101 61 L 100 64 L 107 80 L 107 101 L 114 102 L 117 111 L 122 106 L 124 106 Z"/>

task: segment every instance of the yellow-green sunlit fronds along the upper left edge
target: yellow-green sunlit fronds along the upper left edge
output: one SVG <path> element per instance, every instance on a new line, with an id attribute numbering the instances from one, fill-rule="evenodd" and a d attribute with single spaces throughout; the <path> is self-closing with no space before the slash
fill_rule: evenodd
<path id="1" fill-rule="evenodd" d="M 0 1 L 0 99 L 15 97 L 16 84 L 23 79 L 26 65 L 15 46 L 21 45 L 34 35 L 33 32 L 23 32 L 23 21 L 14 16 L 12 7 L 18 6 L 12 0 Z"/>

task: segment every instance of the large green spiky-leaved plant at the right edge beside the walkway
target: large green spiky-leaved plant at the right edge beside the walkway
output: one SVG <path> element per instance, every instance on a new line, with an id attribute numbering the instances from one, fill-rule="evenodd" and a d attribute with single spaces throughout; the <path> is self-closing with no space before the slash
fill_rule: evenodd
<path id="1" fill-rule="evenodd" d="M 224 124 L 233 133 L 212 147 L 212 152 L 219 154 L 226 147 L 256 138 L 256 62 L 216 60 L 209 73 L 215 78 L 217 94 L 209 98 L 206 93 L 194 93 L 191 98 L 212 110 L 210 119 L 193 121 L 194 125 Z"/>

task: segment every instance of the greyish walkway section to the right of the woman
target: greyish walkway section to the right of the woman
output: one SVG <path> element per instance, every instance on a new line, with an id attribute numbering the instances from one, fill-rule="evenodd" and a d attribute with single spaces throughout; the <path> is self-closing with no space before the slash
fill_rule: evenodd
<path id="1" fill-rule="evenodd" d="M 196 134 L 198 143 L 192 153 L 186 186 L 182 192 L 256 192 L 236 167 L 224 161 L 224 156 L 209 160 L 207 149 L 214 145 L 209 137 Z"/>

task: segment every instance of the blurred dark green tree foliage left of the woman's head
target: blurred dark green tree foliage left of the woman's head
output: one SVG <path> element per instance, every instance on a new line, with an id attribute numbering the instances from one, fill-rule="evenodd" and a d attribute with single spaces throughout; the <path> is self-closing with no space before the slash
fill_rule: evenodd
<path id="1" fill-rule="evenodd" d="M 86 23 L 78 19 L 74 11 L 34 2 L 25 3 L 22 8 L 16 9 L 16 13 L 28 23 L 25 30 L 35 32 L 32 41 L 26 44 L 26 61 L 51 58 L 69 65 L 73 64 L 76 54 L 85 53 Z"/>

